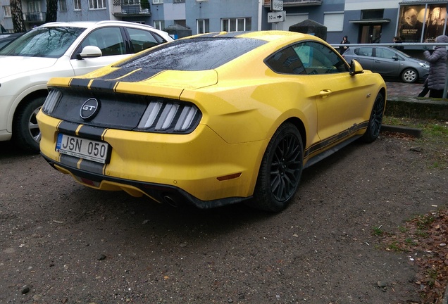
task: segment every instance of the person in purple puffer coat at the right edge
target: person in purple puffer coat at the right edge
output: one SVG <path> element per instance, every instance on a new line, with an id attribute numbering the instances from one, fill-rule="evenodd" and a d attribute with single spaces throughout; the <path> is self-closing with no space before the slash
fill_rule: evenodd
<path id="1" fill-rule="evenodd" d="M 435 38 L 436 43 L 448 43 L 448 36 L 441 35 Z M 430 97 L 442 98 L 447 78 L 447 57 L 448 52 L 445 46 L 435 46 L 433 53 L 428 49 L 423 52 L 426 61 L 430 63 L 428 75 L 428 89 Z"/>

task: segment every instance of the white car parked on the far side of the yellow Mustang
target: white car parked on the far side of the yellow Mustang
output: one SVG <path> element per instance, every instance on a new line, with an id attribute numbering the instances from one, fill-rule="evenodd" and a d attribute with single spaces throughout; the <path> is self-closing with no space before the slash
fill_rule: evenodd
<path id="1" fill-rule="evenodd" d="M 36 114 L 51 77 L 84 75 L 172 41 L 167 32 L 123 21 L 46 23 L 0 50 L 0 141 L 39 151 Z"/>

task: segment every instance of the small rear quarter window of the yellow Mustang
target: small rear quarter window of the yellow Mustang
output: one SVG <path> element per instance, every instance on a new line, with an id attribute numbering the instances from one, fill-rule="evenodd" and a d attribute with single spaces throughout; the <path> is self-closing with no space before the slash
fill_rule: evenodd
<path id="1" fill-rule="evenodd" d="M 266 64 L 274 72 L 282 74 L 306 74 L 299 56 L 292 47 L 282 49 L 266 60 Z"/>

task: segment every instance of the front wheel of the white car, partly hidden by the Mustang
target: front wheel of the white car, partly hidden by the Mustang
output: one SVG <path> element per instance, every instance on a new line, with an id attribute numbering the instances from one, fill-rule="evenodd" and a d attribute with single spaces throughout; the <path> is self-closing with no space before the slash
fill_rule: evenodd
<path id="1" fill-rule="evenodd" d="M 17 109 L 13 122 L 13 140 L 25 151 L 39 153 L 41 133 L 36 115 L 44 104 L 45 97 L 37 97 Z"/>

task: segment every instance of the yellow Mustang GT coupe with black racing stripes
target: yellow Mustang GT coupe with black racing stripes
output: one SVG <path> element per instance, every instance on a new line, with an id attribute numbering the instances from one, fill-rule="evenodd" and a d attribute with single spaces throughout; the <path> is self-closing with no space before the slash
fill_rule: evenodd
<path id="1" fill-rule="evenodd" d="M 53 78 L 42 156 L 77 182 L 212 208 L 278 212 L 301 172 L 380 132 L 382 77 L 296 32 L 220 32 Z"/>

